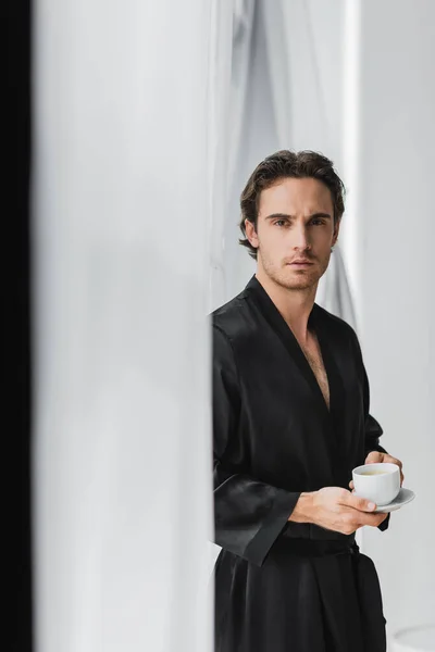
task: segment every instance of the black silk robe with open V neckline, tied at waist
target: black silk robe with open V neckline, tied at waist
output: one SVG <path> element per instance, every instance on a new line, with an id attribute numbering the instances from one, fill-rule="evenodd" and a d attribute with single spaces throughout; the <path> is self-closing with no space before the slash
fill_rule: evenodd
<path id="1" fill-rule="evenodd" d="M 256 277 L 212 324 L 215 652 L 384 652 L 377 575 L 355 535 L 288 522 L 302 491 L 348 489 L 384 451 L 353 329 L 314 304 L 328 410 Z"/>

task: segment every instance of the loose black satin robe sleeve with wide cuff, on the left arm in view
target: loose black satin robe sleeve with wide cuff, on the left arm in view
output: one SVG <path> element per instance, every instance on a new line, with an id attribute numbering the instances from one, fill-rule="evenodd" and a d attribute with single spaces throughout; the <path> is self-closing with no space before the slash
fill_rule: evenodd
<path id="1" fill-rule="evenodd" d="M 214 541 L 261 566 L 299 499 L 250 475 L 234 473 L 232 455 L 243 444 L 239 424 L 240 386 L 233 347 L 213 326 L 213 466 Z"/>

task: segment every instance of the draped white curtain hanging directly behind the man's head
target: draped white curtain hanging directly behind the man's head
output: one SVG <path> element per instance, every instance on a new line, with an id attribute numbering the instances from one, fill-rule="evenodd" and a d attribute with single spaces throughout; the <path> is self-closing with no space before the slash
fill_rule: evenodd
<path id="1" fill-rule="evenodd" d="M 344 172 L 343 7 L 336 2 L 325 7 L 320 0 L 240 0 L 238 4 L 229 109 L 235 137 L 229 139 L 233 164 L 228 164 L 220 253 L 225 300 L 239 292 L 254 272 L 238 244 L 238 221 L 240 191 L 259 161 L 277 149 L 313 149 L 332 158 L 339 174 Z M 325 22 L 333 29 L 322 32 Z M 345 228 L 349 233 L 349 225 Z M 356 326 L 339 244 L 320 283 L 318 301 Z"/>

